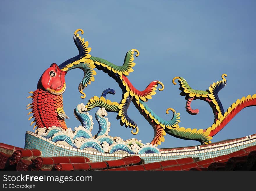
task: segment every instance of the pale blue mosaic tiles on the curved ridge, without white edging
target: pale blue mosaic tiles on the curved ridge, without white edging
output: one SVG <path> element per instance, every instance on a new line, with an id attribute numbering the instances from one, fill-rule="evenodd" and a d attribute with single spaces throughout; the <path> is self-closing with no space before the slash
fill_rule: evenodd
<path id="1" fill-rule="evenodd" d="M 231 146 L 231 144 L 229 144 Z M 159 162 L 163 160 L 173 160 L 173 159 L 180 159 L 180 158 L 187 158 L 187 157 L 193 157 L 193 158 L 199 158 L 200 160 L 204 160 L 207 158 L 214 158 L 217 156 L 229 154 L 235 151 L 239 151 L 243 148 L 250 147 L 256 145 L 256 140 L 254 139 L 254 142 L 238 145 L 237 147 L 227 148 L 227 149 L 221 149 L 217 151 L 209 151 L 210 149 L 198 149 L 197 151 L 205 151 L 205 153 L 194 153 L 194 154 L 185 154 L 186 151 L 177 151 L 177 152 L 169 152 L 169 156 L 153 156 L 148 154 L 148 157 L 141 156 L 142 159 L 144 159 L 145 163 L 153 163 L 153 162 Z M 233 145 L 234 146 L 234 145 Z M 25 138 L 25 149 L 38 149 L 42 152 L 42 157 L 51 157 L 51 156 L 85 156 L 90 159 L 91 162 L 100 162 L 104 160 L 117 160 L 125 155 L 120 155 L 119 157 L 113 156 L 109 154 L 108 156 L 102 156 L 97 154 L 90 154 L 90 153 L 84 153 L 79 151 L 73 151 L 72 149 L 65 149 L 62 147 L 58 147 L 56 145 L 51 144 L 50 142 L 47 142 L 45 140 L 42 140 L 40 138 L 37 138 L 33 135 L 30 135 L 26 133 Z M 223 147 L 224 148 L 224 147 Z M 191 151 L 188 151 L 191 152 Z M 171 153 L 176 153 L 175 156 L 171 156 Z M 182 154 L 183 153 L 183 154 Z M 163 154 L 162 154 L 163 155 Z"/>

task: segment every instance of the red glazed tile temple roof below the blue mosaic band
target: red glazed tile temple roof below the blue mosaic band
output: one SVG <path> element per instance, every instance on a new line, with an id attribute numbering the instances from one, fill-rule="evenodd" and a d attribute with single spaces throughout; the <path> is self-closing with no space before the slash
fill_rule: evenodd
<path id="1" fill-rule="evenodd" d="M 136 155 L 102 162 L 90 162 L 90 158 L 84 156 L 42 157 L 38 149 L 23 149 L 0 143 L 0 169 L 24 171 L 256 170 L 256 146 L 205 160 L 188 157 L 145 163 L 140 156 Z"/>

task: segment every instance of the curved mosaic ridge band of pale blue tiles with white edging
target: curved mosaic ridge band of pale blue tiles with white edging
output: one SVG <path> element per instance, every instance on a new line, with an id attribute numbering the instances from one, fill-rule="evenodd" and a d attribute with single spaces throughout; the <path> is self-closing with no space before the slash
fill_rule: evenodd
<path id="1" fill-rule="evenodd" d="M 90 158 L 91 162 L 101 162 L 104 160 L 117 160 L 125 156 L 137 155 L 145 160 L 145 163 L 160 162 L 163 160 L 172 160 L 180 158 L 199 158 L 204 160 L 229 154 L 240 149 L 256 145 L 256 134 L 243 138 L 228 140 L 208 145 L 198 145 L 193 147 L 181 147 L 173 149 L 160 149 L 158 154 L 109 154 L 95 151 L 87 151 L 67 147 L 43 138 L 31 131 L 26 132 L 25 149 L 38 149 L 42 157 L 52 156 L 85 156 Z"/>

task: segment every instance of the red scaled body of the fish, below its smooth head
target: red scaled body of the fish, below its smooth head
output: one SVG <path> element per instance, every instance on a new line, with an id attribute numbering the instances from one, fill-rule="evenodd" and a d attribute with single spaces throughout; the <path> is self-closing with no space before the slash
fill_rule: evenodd
<path id="1" fill-rule="evenodd" d="M 58 116 L 57 108 L 63 107 L 62 95 L 54 95 L 38 89 L 33 93 L 32 112 L 38 128 L 59 126 L 67 129 L 64 119 Z"/>

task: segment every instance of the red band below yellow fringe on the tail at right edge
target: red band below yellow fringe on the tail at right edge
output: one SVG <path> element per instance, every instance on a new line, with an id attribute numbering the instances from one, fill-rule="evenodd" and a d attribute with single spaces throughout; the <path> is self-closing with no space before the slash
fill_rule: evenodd
<path id="1" fill-rule="evenodd" d="M 223 121 L 220 123 L 219 126 L 217 126 L 214 131 L 211 131 L 211 133 L 209 134 L 209 136 L 214 136 L 216 135 L 216 133 L 218 133 L 219 131 L 221 131 L 221 129 L 223 129 L 225 127 L 225 125 L 230 122 L 230 120 L 237 115 L 237 113 L 239 113 L 243 108 L 246 108 L 248 106 L 255 106 L 256 105 L 256 99 L 246 99 L 245 101 L 243 101 L 242 103 L 239 103 L 234 109 L 232 109 L 232 111 L 223 119 Z"/>

